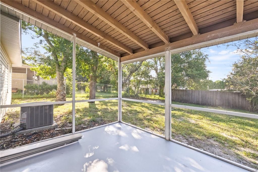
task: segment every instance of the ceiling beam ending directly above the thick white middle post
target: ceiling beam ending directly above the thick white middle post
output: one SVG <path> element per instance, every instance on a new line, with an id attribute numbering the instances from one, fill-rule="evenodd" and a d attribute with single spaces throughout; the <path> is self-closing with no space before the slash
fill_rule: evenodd
<path id="1" fill-rule="evenodd" d="M 146 24 L 162 41 L 169 43 L 168 36 L 163 30 L 152 20 L 152 18 L 142 9 L 136 2 L 131 0 L 122 1 L 144 24 Z"/>

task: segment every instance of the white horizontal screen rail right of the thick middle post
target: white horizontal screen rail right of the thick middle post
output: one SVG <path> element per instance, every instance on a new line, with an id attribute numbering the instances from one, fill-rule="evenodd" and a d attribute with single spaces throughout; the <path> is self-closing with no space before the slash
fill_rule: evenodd
<path id="1" fill-rule="evenodd" d="M 250 114 L 250 113 L 223 111 L 223 110 L 217 110 L 217 109 L 209 109 L 209 108 L 194 107 L 194 106 L 184 106 L 184 105 L 176 105 L 176 104 L 171 104 L 171 107 L 178 107 L 178 108 L 183 108 L 183 109 L 191 109 L 191 110 L 197 110 L 197 111 L 220 113 L 220 114 L 225 114 L 225 115 L 234 115 L 234 116 L 258 119 L 258 115 Z"/>

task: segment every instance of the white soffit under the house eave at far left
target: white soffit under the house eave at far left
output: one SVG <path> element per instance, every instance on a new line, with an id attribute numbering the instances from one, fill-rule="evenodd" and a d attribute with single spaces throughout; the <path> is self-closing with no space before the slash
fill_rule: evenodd
<path id="1" fill-rule="evenodd" d="M 2 15 L 0 19 L 1 44 L 12 64 L 21 66 L 20 22 Z"/>

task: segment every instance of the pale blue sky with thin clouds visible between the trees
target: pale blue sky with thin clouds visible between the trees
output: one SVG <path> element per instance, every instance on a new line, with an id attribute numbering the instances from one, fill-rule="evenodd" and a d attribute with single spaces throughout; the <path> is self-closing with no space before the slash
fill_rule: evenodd
<path id="1" fill-rule="evenodd" d="M 30 35 L 22 34 L 22 48 L 34 47 L 34 43 L 38 42 L 40 38 L 31 39 Z M 39 50 L 46 52 L 43 48 Z M 231 71 L 232 64 L 239 59 L 239 54 L 235 53 L 236 48 L 233 46 L 226 47 L 225 45 L 214 45 L 201 49 L 205 54 L 208 54 L 209 61 L 206 62 L 207 68 L 211 71 L 209 79 L 212 81 L 222 80 L 227 77 Z"/>

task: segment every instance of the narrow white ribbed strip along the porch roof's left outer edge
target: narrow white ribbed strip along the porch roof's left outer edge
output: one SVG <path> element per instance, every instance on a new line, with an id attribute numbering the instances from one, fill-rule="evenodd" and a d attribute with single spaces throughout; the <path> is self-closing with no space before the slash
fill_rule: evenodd
<path id="1" fill-rule="evenodd" d="M 15 11 L 13 9 L 10 9 L 9 7 L 6 7 L 3 4 L 1 4 L 0 8 L 1 8 L 1 11 L 5 12 L 7 14 L 10 14 L 10 15 L 12 15 L 14 17 L 17 17 L 17 18 L 19 18 L 19 19 L 21 19 L 23 21 L 26 21 L 26 22 L 28 22 L 28 23 L 30 23 L 32 25 L 35 25 L 35 26 L 37 26 L 39 28 L 47 30 L 47 31 L 49 31 L 49 32 L 51 32 L 51 33 L 53 33 L 55 35 L 58 35 L 60 37 L 63 37 L 65 39 L 69 40 L 69 41 L 72 41 L 72 39 L 73 39 L 72 35 L 70 35 L 68 33 L 65 33 L 65 32 L 63 32 L 63 31 L 61 31 L 61 30 L 59 30 L 59 29 L 57 29 L 57 28 L 55 28 L 53 26 L 47 25 L 47 24 L 45 24 L 45 23 L 43 23 L 43 22 L 41 22 L 41 21 L 39 21 L 37 19 L 34 19 L 34 18 L 26 15 L 26 14 L 23 14 L 21 12 L 18 12 L 18 11 Z M 79 44 L 79 45 L 82 45 L 82 46 L 84 46 L 84 47 L 86 47 L 88 49 L 91 49 L 93 51 L 96 51 L 96 52 L 98 52 L 98 53 L 100 53 L 100 54 L 102 54 L 102 55 L 104 55 L 106 57 L 109 57 L 111 59 L 114 59 L 114 60 L 118 61 L 119 57 L 117 57 L 114 54 L 111 54 L 111 53 L 109 53 L 107 51 L 104 51 L 104 50 L 98 48 L 95 45 L 87 43 L 87 42 L 85 42 L 83 40 L 80 40 L 78 38 L 76 38 L 76 43 Z"/>

